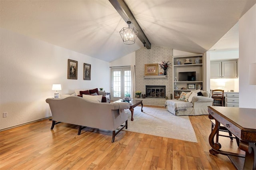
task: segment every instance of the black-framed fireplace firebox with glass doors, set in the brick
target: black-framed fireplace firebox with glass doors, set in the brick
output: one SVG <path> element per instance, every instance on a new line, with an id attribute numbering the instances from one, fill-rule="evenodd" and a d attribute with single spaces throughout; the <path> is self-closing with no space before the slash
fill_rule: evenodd
<path id="1" fill-rule="evenodd" d="M 146 97 L 164 98 L 165 85 L 146 85 Z"/>

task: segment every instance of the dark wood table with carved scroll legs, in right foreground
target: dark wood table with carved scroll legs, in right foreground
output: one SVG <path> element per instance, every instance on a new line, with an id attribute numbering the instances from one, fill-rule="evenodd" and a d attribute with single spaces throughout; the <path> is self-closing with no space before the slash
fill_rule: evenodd
<path id="1" fill-rule="evenodd" d="M 256 109 L 208 106 L 209 119 L 215 119 L 216 124 L 209 136 L 212 149 L 210 154 L 224 154 L 238 170 L 256 169 Z M 245 155 L 220 150 L 221 144 L 214 143 L 214 136 L 220 128 L 220 123 L 240 139 L 239 148 Z"/>

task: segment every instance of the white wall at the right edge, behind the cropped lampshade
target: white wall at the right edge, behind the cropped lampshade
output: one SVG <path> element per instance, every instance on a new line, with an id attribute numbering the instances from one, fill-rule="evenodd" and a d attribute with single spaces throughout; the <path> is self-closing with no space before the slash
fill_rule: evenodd
<path id="1" fill-rule="evenodd" d="M 249 85 L 249 64 L 256 63 L 256 5 L 239 20 L 239 107 L 256 108 L 256 85 Z"/>

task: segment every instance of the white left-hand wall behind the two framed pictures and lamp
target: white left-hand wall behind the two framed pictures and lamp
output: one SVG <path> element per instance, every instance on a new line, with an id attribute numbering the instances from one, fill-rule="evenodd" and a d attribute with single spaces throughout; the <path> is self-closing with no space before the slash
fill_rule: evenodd
<path id="1" fill-rule="evenodd" d="M 51 116 L 45 99 L 52 84 L 63 93 L 103 87 L 110 90 L 109 63 L 62 47 L 0 30 L 0 130 Z M 78 61 L 78 79 L 67 79 L 68 59 Z M 91 64 L 91 81 L 83 80 L 83 64 Z M 3 112 L 8 117 L 3 118 Z M 49 127 L 50 128 L 50 127 Z"/>

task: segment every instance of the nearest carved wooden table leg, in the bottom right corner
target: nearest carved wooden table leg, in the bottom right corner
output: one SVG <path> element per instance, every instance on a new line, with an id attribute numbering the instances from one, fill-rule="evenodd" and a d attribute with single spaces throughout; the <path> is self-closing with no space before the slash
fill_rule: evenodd
<path id="1" fill-rule="evenodd" d="M 240 141 L 239 148 L 245 151 L 244 170 L 256 169 L 256 145 L 252 142 Z"/>

